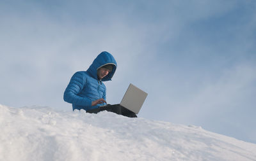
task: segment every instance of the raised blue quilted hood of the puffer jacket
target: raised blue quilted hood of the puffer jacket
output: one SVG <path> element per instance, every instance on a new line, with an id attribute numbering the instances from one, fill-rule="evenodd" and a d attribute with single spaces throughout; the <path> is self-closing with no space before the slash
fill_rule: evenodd
<path id="1" fill-rule="evenodd" d="M 116 71 L 116 60 L 113 57 L 113 55 L 111 55 L 111 53 L 109 52 L 101 52 L 92 62 L 92 65 L 88 68 L 87 72 L 90 73 L 90 75 L 95 78 L 96 80 L 98 80 L 98 76 L 97 76 L 97 70 L 102 67 L 102 66 L 106 66 L 107 64 L 112 64 L 113 65 L 113 69 L 110 73 L 108 73 L 107 76 L 105 76 L 104 78 L 102 78 L 101 81 L 109 81 L 111 80 L 111 78 L 114 76 L 115 71 Z"/>

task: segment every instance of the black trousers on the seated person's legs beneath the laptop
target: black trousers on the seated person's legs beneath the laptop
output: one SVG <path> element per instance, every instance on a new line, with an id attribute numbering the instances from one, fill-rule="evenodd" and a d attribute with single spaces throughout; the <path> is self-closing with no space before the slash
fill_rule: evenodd
<path id="1" fill-rule="evenodd" d="M 118 115 L 123 115 L 123 116 L 127 116 L 127 117 L 137 117 L 137 115 L 130 111 L 127 108 L 124 108 L 123 106 L 119 105 L 119 104 L 114 104 L 114 105 L 108 105 L 108 106 L 102 106 L 96 109 L 90 109 L 87 110 L 87 113 L 99 113 L 100 111 L 109 111 L 109 112 L 113 112 L 116 113 Z"/>

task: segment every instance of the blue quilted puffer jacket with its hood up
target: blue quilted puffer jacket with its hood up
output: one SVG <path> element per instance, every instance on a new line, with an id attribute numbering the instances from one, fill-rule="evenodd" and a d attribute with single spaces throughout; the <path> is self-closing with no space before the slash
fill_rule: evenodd
<path id="1" fill-rule="evenodd" d="M 97 69 L 107 64 L 113 64 L 112 71 L 98 80 Z M 102 106 L 103 104 L 97 104 L 97 106 L 92 106 L 92 101 L 97 99 L 106 100 L 106 87 L 102 81 L 109 81 L 113 77 L 116 71 L 116 60 L 108 52 L 100 53 L 95 60 L 93 60 L 92 65 L 87 71 L 76 72 L 64 92 L 64 101 L 71 103 L 74 109 L 94 109 Z"/>

